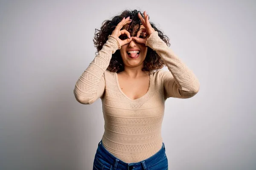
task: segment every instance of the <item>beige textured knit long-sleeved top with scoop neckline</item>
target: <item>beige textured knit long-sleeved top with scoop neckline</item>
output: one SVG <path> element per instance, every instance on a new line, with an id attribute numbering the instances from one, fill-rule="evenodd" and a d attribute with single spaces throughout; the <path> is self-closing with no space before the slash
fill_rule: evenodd
<path id="1" fill-rule="evenodd" d="M 160 39 L 157 31 L 148 37 L 146 45 L 159 54 L 169 71 L 151 71 L 144 96 L 129 99 L 119 87 L 117 74 L 107 70 L 112 54 L 120 49 L 111 35 L 74 89 L 76 100 L 82 104 L 102 100 L 105 120 L 102 144 L 126 163 L 147 159 L 162 147 L 161 126 L 167 98 L 186 99 L 199 91 L 197 77 Z"/>

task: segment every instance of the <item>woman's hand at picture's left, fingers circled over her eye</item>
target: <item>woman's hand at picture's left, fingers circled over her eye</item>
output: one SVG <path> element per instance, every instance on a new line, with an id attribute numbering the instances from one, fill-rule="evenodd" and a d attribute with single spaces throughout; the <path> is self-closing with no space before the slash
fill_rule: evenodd
<path id="1" fill-rule="evenodd" d="M 122 47 L 122 45 L 125 45 L 125 44 L 131 42 L 131 40 L 133 40 L 133 39 L 131 38 L 130 33 L 129 33 L 126 29 L 120 30 L 125 24 L 131 23 L 131 20 L 129 20 L 129 19 L 130 19 L 130 17 L 127 17 L 126 19 L 125 19 L 125 17 L 124 17 L 124 18 L 121 20 L 121 22 L 117 24 L 116 28 L 114 29 L 114 31 L 113 31 L 112 34 L 111 34 L 113 37 L 116 38 L 116 40 L 119 42 L 119 45 L 120 45 L 121 47 Z M 122 35 L 122 34 L 126 34 L 128 38 L 125 39 L 125 40 L 121 40 L 121 39 L 119 38 L 119 36 Z"/>

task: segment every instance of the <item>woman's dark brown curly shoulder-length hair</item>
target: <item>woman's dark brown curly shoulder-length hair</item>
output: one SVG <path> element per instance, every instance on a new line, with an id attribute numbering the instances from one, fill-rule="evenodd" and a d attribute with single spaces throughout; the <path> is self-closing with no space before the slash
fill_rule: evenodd
<path id="1" fill-rule="evenodd" d="M 95 40 L 93 40 L 94 46 L 97 48 L 97 52 L 95 54 L 97 55 L 97 53 L 99 53 L 99 51 L 102 49 L 102 46 L 107 42 L 108 35 L 112 34 L 113 30 L 116 28 L 117 24 L 121 22 L 123 17 L 125 18 L 130 17 L 130 19 L 132 19 L 128 27 L 128 31 L 130 33 L 133 32 L 133 28 L 135 25 L 137 24 L 139 24 L 139 26 L 142 25 L 140 18 L 138 17 L 138 13 L 140 13 L 144 18 L 144 15 L 140 11 L 125 10 L 125 11 L 122 11 L 120 15 L 113 17 L 112 20 L 103 21 L 100 30 L 95 29 L 95 36 L 94 36 Z M 169 38 L 166 35 L 163 35 L 163 32 L 157 29 L 154 23 L 150 22 L 150 24 L 152 28 L 154 28 L 154 30 L 158 32 L 158 36 L 166 43 L 166 45 L 170 46 Z M 137 31 L 139 30 L 140 30 L 140 27 L 136 30 L 135 34 L 137 34 Z M 148 51 L 143 63 L 142 71 L 157 70 L 157 69 L 163 68 L 164 65 L 165 65 L 164 61 L 157 54 L 157 52 L 152 50 L 150 47 L 148 47 Z M 112 54 L 112 58 L 107 69 L 111 72 L 121 72 L 124 70 L 124 63 L 122 61 L 122 57 L 119 50 L 116 50 L 116 52 Z"/>

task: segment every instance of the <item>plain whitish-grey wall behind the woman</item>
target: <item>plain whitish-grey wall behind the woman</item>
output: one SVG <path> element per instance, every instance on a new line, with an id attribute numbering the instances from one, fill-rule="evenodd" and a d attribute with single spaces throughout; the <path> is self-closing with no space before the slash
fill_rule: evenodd
<path id="1" fill-rule="evenodd" d="M 102 103 L 81 105 L 73 89 L 95 28 L 125 9 L 146 10 L 200 81 L 194 97 L 166 100 L 169 169 L 255 170 L 253 0 L 1 0 L 0 169 L 92 169 Z"/>

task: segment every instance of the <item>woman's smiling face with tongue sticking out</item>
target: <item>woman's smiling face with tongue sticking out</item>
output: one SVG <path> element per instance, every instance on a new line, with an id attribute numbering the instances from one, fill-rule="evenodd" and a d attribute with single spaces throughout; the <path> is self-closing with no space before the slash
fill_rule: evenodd
<path id="1" fill-rule="evenodd" d="M 134 26 L 134 30 L 137 30 L 138 27 L 139 27 L 138 24 Z M 128 28 L 128 24 L 123 26 L 123 29 L 127 29 L 127 28 Z M 140 28 L 145 28 L 145 27 L 141 25 Z M 136 36 L 136 34 L 137 32 L 134 31 L 133 33 L 131 33 L 131 37 Z M 126 37 L 126 35 L 123 35 L 123 36 Z M 144 37 L 146 36 L 144 35 Z M 140 38 L 142 38 L 142 36 Z M 146 47 L 145 44 L 138 43 L 136 40 L 131 40 L 131 42 L 125 45 L 122 45 L 120 49 L 120 54 L 124 62 L 124 65 L 126 67 L 135 67 L 139 65 L 142 65 L 143 67 L 143 62 L 146 57 L 147 51 L 148 51 L 148 48 Z"/>

